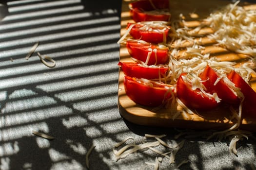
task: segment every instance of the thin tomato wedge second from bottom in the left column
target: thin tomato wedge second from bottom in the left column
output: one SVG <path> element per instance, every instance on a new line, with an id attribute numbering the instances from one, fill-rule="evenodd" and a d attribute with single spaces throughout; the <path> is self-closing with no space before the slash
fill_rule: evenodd
<path id="1" fill-rule="evenodd" d="M 124 62 L 118 63 L 125 75 L 129 77 L 158 79 L 163 78 L 168 71 L 168 67 L 142 67 L 138 63 Z"/>

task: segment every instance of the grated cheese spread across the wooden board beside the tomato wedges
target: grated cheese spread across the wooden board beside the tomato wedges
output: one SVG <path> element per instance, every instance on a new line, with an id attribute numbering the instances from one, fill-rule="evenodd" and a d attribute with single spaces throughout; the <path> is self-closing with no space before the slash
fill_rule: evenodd
<path id="1" fill-rule="evenodd" d="M 232 118 L 235 119 L 236 124 L 226 131 L 239 128 L 243 101 L 243 94 L 240 89 L 229 81 L 226 75 L 235 70 L 246 82 L 249 82 L 252 74 L 256 75 L 254 71 L 256 68 L 254 58 L 256 57 L 256 10 L 245 10 L 243 7 L 237 6 L 238 3 L 239 1 L 229 4 L 210 14 L 197 27 L 190 28 L 184 26 L 185 24 L 180 27 L 177 22 L 173 22 L 175 30 L 172 35 L 174 36 L 172 36 L 173 39 L 169 44 L 171 51 L 170 72 L 167 77 L 170 84 L 175 85 L 181 73 L 188 73 L 189 78 L 183 80 L 191 83 L 192 89 L 198 88 L 202 93 L 220 102 L 217 94 L 211 96 L 205 92 L 205 87 L 199 78 L 200 73 L 209 65 L 217 71 L 219 76 L 217 81 L 222 79 L 229 85 L 234 94 L 242 99 L 238 110 L 231 108 Z M 206 31 L 203 32 L 202 30 Z M 248 56 L 246 56 L 243 63 L 239 63 L 239 66 L 236 61 L 220 61 L 217 57 L 210 56 L 210 53 L 204 52 L 205 47 L 202 46 L 204 44 L 202 39 L 205 37 L 210 39 L 210 42 L 217 43 L 216 46 Z M 215 84 L 217 84 L 217 81 Z M 188 113 L 193 112 L 181 101 L 177 100 L 177 102 Z"/>

